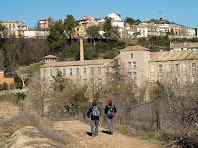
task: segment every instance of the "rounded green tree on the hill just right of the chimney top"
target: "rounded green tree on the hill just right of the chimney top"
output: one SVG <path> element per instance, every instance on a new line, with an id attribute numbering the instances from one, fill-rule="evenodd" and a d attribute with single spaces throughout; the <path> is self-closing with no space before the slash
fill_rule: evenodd
<path id="1" fill-rule="evenodd" d="M 99 30 L 100 30 L 100 27 L 95 26 L 95 25 L 88 27 L 86 30 L 87 35 L 93 39 L 94 44 L 95 44 L 95 38 L 100 37 Z"/>

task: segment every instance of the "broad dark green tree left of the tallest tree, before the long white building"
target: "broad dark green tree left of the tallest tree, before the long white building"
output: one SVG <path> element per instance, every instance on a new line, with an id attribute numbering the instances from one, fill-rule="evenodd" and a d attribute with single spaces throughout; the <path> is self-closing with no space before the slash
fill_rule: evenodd
<path id="1" fill-rule="evenodd" d="M 62 51 L 66 44 L 66 36 L 62 25 L 62 20 L 55 22 L 50 28 L 50 33 L 47 37 L 51 52 Z"/>

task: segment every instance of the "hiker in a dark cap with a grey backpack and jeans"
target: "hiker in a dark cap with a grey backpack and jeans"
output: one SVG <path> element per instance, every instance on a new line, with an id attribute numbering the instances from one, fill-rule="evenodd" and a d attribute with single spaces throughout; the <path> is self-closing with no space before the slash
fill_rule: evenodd
<path id="1" fill-rule="evenodd" d="M 91 114 L 91 133 L 92 136 L 98 136 L 98 124 L 99 124 L 99 116 L 101 115 L 100 109 L 97 107 L 96 103 L 92 103 L 92 107 L 89 108 L 89 111 L 87 112 L 88 118 Z M 95 130 L 94 130 L 95 125 Z"/>

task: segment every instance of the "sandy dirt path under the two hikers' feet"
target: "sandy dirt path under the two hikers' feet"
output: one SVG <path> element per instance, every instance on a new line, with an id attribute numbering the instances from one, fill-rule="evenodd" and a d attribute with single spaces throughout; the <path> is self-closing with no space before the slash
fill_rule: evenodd
<path id="1" fill-rule="evenodd" d="M 69 135 L 69 141 L 76 143 L 77 147 L 82 148 L 162 148 L 162 145 L 151 141 L 143 141 L 128 137 L 120 133 L 109 135 L 101 132 L 99 135 L 91 137 L 88 135 L 90 126 L 80 121 L 59 121 L 54 128 L 65 131 Z M 105 129 L 103 129 L 105 131 Z"/>

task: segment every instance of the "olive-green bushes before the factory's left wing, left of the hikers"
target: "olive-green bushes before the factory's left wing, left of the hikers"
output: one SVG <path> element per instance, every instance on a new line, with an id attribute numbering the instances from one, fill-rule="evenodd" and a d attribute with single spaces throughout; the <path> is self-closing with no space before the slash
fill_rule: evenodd
<path id="1" fill-rule="evenodd" d="M 53 79 L 54 84 L 52 88 L 54 91 L 52 93 L 56 94 L 55 98 L 58 101 L 53 108 L 66 108 L 67 110 L 77 111 L 82 105 L 88 102 L 88 98 L 85 96 L 87 86 L 79 87 L 69 79 L 65 79 L 61 71 Z"/>

